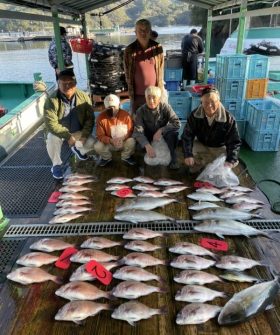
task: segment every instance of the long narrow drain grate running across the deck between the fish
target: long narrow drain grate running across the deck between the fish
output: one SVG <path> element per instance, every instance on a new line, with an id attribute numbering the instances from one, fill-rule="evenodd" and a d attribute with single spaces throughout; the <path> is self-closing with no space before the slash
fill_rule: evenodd
<path id="1" fill-rule="evenodd" d="M 249 226 L 260 230 L 280 231 L 279 220 L 246 222 Z M 61 225 L 11 225 L 4 237 L 31 237 L 31 236 L 72 236 L 72 235 L 104 235 L 123 234 L 133 227 L 148 228 L 163 233 L 190 233 L 193 232 L 194 221 L 180 220 L 176 223 L 158 221 L 142 223 L 137 226 L 127 222 L 93 222 L 71 223 Z"/>

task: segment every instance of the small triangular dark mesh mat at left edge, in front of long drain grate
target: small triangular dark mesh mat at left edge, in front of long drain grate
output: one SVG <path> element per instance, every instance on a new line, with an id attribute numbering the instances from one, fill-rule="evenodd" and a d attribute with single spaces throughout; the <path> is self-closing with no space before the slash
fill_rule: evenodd
<path id="1" fill-rule="evenodd" d="M 11 271 L 24 244 L 25 239 L 0 241 L 0 283 L 6 280 L 6 275 Z"/>

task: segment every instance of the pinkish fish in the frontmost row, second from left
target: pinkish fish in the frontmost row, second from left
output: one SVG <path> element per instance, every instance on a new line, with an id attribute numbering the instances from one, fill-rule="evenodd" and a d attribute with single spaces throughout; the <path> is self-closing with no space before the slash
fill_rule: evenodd
<path id="1" fill-rule="evenodd" d="M 138 301 L 129 301 L 121 304 L 117 307 L 112 313 L 113 319 L 127 321 L 131 326 L 134 326 L 134 323 L 143 320 L 149 319 L 153 315 L 166 314 L 166 308 L 150 308 Z"/>

